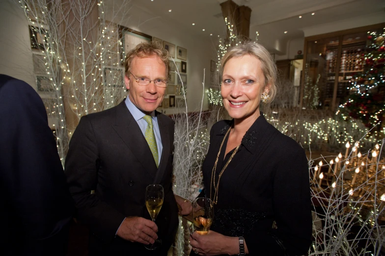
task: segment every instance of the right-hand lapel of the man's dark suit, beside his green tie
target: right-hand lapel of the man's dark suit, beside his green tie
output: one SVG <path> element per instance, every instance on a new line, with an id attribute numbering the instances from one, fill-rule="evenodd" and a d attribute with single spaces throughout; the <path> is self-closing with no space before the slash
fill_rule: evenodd
<path id="1" fill-rule="evenodd" d="M 170 147 L 171 147 L 170 136 L 168 134 L 168 127 L 166 126 L 164 117 L 165 116 L 157 113 L 157 119 L 158 119 L 159 131 L 161 133 L 163 150 L 162 150 L 161 162 L 159 163 L 159 168 L 155 175 L 154 184 L 161 183 L 162 178 L 165 174 L 165 168 L 167 166 L 168 156 L 170 154 Z"/>

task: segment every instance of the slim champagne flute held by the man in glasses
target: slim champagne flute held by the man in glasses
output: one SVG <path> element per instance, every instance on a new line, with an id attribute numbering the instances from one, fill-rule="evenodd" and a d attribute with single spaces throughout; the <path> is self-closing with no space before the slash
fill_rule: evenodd
<path id="1" fill-rule="evenodd" d="M 155 222 L 163 205 L 164 191 L 162 185 L 152 184 L 146 187 L 145 201 L 148 213 Z M 155 250 L 162 245 L 162 240 L 157 239 L 155 243 L 144 245 L 148 250 Z"/>

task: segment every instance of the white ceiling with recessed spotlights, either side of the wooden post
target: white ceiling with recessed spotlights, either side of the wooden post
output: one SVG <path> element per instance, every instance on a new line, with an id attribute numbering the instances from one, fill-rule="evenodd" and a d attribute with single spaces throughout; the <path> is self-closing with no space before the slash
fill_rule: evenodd
<path id="1" fill-rule="evenodd" d="M 218 35 L 223 36 L 226 32 L 220 7 L 220 3 L 224 1 L 131 0 L 131 3 L 151 13 L 153 17 L 165 19 L 193 35 L 218 38 Z M 277 51 L 272 49 L 274 42 L 303 38 L 303 31 L 309 27 L 337 23 L 358 16 L 370 17 L 371 14 L 379 12 L 384 15 L 385 22 L 385 0 L 233 1 L 238 5 L 247 5 L 251 8 L 250 37 L 254 37 L 255 32 L 258 31 L 259 40 L 265 45 L 272 45 L 269 50 L 273 51 Z M 357 24 L 357 26 L 360 25 Z M 284 33 L 285 31 L 287 33 Z"/>

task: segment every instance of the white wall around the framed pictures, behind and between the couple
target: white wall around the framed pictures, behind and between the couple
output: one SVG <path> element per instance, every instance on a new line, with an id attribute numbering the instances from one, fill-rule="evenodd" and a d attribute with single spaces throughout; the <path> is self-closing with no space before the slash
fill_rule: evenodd
<path id="1" fill-rule="evenodd" d="M 187 10 L 186 10 L 187 11 Z M 163 17 L 157 16 L 150 10 L 131 5 L 128 19 L 114 17 L 110 11 L 106 19 L 139 32 L 160 38 L 171 44 L 187 49 L 187 105 L 188 111 L 197 110 L 203 96 L 203 70 L 205 69 L 205 90 L 210 86 L 210 60 L 216 60 L 216 50 L 210 37 L 192 35 L 186 29 L 179 27 Z M 122 21 L 123 20 L 123 21 Z M 175 49 L 176 51 L 176 49 Z M 176 59 L 176 61 L 181 61 Z M 173 65 L 173 63 L 170 63 Z M 168 97 L 168 96 L 166 96 Z M 178 96 L 177 96 L 178 97 Z M 208 109 L 207 96 L 203 100 L 203 109 Z M 176 113 L 176 108 L 165 108 L 166 114 Z"/>

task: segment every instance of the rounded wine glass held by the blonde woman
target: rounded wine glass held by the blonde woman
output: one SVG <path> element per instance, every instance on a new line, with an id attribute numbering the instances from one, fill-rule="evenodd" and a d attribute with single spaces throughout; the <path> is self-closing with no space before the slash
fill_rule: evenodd
<path id="1" fill-rule="evenodd" d="M 210 198 L 198 197 L 192 203 L 192 224 L 198 234 L 209 232 L 214 219 L 213 201 Z"/>

